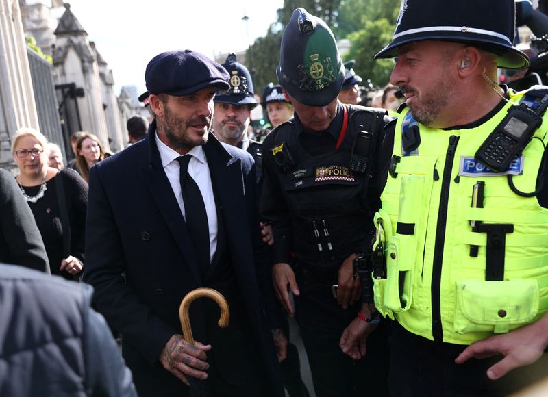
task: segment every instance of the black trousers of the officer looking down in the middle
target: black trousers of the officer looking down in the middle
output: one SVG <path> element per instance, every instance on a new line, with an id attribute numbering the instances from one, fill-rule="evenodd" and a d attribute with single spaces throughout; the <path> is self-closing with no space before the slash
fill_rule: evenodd
<path id="1" fill-rule="evenodd" d="M 353 360 L 340 350 L 339 342 L 361 303 L 343 309 L 329 290 L 300 291 L 301 295 L 295 296 L 296 318 L 316 396 L 388 396 L 389 322 L 382 321 L 369 335 L 366 356 Z"/>

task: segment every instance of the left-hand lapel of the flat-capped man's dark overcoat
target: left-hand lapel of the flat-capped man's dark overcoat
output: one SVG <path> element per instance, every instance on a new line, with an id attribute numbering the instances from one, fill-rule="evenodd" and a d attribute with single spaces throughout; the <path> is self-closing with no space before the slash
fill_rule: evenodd
<path id="1" fill-rule="evenodd" d="M 194 247 L 190 242 L 190 235 L 179 209 L 179 204 L 177 203 L 177 199 L 175 199 L 169 179 L 167 179 L 164 172 L 160 152 L 158 151 L 158 146 L 156 146 L 155 132 L 156 120 L 153 120 L 147 134 L 147 139 L 149 140 L 149 163 L 141 168 L 141 172 L 145 182 L 149 186 L 151 196 L 158 207 L 158 211 L 162 214 L 162 218 L 164 218 L 167 227 L 177 242 L 177 246 L 179 246 L 179 249 L 183 253 L 197 284 L 201 284 L 198 259 Z"/>

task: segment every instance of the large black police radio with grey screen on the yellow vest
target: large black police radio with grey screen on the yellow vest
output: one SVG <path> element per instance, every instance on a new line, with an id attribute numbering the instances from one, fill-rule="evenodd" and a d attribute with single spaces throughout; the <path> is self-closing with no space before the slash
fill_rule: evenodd
<path id="1" fill-rule="evenodd" d="M 542 123 L 543 119 L 524 103 L 510 107 L 506 117 L 479 146 L 474 158 L 495 172 L 508 170 L 510 162 L 521 156 Z"/>

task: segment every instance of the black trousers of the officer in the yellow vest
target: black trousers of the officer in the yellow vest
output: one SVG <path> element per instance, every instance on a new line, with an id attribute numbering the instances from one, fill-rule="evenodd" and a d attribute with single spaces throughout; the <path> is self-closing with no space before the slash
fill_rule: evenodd
<path id="1" fill-rule="evenodd" d="M 506 396 L 548 374 L 546 361 L 541 359 L 491 381 L 486 375 L 487 369 L 502 356 L 470 359 L 457 365 L 454 360 L 464 348 L 466 346 L 432 342 L 395 322 L 390 335 L 390 396 Z"/>

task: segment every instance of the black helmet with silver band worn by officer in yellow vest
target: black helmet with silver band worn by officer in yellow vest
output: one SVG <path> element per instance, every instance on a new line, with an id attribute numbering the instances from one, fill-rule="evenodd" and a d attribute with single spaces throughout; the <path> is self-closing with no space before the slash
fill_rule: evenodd
<path id="1" fill-rule="evenodd" d="M 395 57 L 409 42 L 441 40 L 495 53 L 500 68 L 525 68 L 529 58 L 512 47 L 514 31 L 514 0 L 402 0 L 393 40 L 375 58 Z"/>

